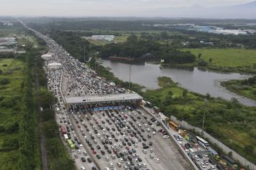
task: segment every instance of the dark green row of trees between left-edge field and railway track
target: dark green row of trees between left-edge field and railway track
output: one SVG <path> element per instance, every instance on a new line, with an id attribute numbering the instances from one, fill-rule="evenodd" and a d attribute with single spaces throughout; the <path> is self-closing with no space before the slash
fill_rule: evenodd
<path id="1" fill-rule="evenodd" d="M 35 169 L 37 148 L 37 115 L 35 114 L 35 103 L 33 101 L 32 88 L 32 67 L 35 52 L 33 49 L 27 51 L 25 56 L 24 82 L 23 82 L 23 98 L 22 111 L 19 121 L 19 169 L 32 170 Z"/>

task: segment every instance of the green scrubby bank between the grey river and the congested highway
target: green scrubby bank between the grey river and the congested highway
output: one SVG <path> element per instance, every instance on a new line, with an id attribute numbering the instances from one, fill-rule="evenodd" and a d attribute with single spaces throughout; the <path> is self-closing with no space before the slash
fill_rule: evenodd
<path id="1" fill-rule="evenodd" d="M 93 67 L 92 67 L 93 68 Z M 128 88 L 128 82 L 115 77 L 109 69 L 103 66 L 97 68 L 97 73 L 107 80 Z M 205 129 L 212 136 L 218 138 L 239 154 L 256 162 L 254 153 L 247 153 L 248 146 L 256 146 L 256 127 L 254 122 L 255 107 L 247 107 L 221 98 L 211 98 L 209 95 L 200 95 L 180 88 L 169 77 L 159 77 L 160 88 L 142 91 L 142 87 L 131 83 L 131 90 L 141 94 L 166 115 L 175 115 L 180 120 L 187 121 L 193 126 L 202 126 L 203 113 L 206 112 Z M 208 102 L 205 99 L 208 98 Z M 247 122 L 247 126 L 244 126 Z M 250 126 L 250 130 L 247 127 Z M 246 138 L 247 140 L 244 140 Z"/>

